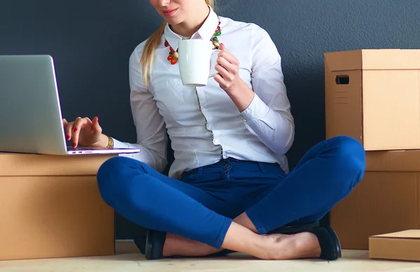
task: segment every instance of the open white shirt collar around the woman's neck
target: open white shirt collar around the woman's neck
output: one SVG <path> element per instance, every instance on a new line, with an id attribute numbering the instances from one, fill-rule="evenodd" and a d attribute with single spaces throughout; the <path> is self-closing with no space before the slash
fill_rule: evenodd
<path id="1" fill-rule="evenodd" d="M 213 8 L 211 8 L 211 6 L 209 6 L 209 8 L 209 16 L 207 16 L 207 19 L 204 21 L 200 29 L 198 29 L 198 31 L 195 34 L 193 34 L 191 38 L 202 38 L 210 41 L 211 37 L 214 34 L 214 31 L 216 31 L 219 19 L 218 15 L 216 15 Z M 171 45 L 172 48 L 174 48 L 174 50 L 178 48 L 179 41 L 183 39 L 181 36 L 172 31 L 172 29 L 169 27 L 169 24 L 166 24 L 164 37 L 168 41 L 169 45 Z"/>

